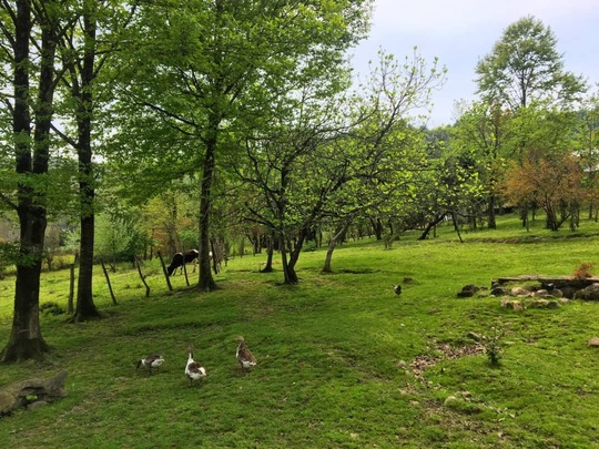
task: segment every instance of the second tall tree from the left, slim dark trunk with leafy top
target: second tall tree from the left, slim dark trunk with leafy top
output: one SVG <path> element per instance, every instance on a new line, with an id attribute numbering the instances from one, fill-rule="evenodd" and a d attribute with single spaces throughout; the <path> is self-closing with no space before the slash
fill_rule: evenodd
<path id="1" fill-rule="evenodd" d="M 122 2 L 113 0 L 77 0 L 71 14 L 72 25 L 65 29 L 58 49 L 67 70 L 62 79 L 67 103 L 63 119 L 74 122 L 74 132 L 55 130 L 75 150 L 79 163 L 80 268 L 73 320 L 84 322 L 100 316 L 92 293 L 97 177 L 92 131 L 99 105 L 111 99 L 99 95 L 98 78 L 114 53 L 118 34 L 134 17 L 135 2 L 123 8 Z"/>

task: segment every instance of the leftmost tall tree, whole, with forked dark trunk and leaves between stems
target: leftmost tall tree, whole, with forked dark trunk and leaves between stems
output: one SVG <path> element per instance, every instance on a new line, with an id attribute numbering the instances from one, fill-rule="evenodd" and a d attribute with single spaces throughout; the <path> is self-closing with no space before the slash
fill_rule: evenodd
<path id="1" fill-rule="evenodd" d="M 40 275 L 47 226 L 50 125 L 55 89 L 57 2 L 2 0 L 1 45 L 12 70 L 12 114 L 17 196 L 1 194 L 19 216 L 14 314 L 2 361 L 39 358 L 49 349 L 39 323 Z M 32 48 L 31 42 L 35 42 Z M 35 58 L 33 58 L 33 55 Z M 38 59 L 38 64 L 33 60 Z M 37 89 L 31 84 L 37 82 Z M 37 95 L 35 95 L 37 91 Z"/>

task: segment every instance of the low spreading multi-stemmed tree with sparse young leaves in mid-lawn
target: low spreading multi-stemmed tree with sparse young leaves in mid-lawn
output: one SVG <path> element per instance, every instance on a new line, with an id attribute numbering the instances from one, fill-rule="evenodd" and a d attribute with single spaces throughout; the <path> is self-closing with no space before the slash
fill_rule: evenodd
<path id="1" fill-rule="evenodd" d="M 250 212 L 277 236 L 286 284 L 298 282 L 295 265 L 314 229 L 325 221 L 337 226 L 324 266 L 331 269 L 344 229 L 357 215 L 396 198 L 425 157 L 409 144 L 407 120 L 426 105 L 444 72 L 436 64 L 427 70 L 416 54 L 400 64 L 382 52 L 379 62 L 361 89 L 363 96 L 346 101 L 334 90 L 323 95 L 324 80 L 294 94 L 296 112 L 250 139 L 237 159 L 248 161 L 238 170 L 243 181 L 262 192 L 265 207 Z"/>

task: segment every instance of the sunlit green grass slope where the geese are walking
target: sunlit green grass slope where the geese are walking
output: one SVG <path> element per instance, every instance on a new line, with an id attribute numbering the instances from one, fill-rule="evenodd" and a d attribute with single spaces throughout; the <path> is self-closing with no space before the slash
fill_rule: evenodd
<path id="1" fill-rule="evenodd" d="M 570 275 L 599 267 L 598 225 L 527 233 L 517 218 L 498 231 L 449 227 L 427 242 L 410 234 L 384 249 L 351 242 L 319 272 L 324 249 L 304 253 L 298 286 L 282 273 L 260 274 L 264 256 L 235 258 L 216 276 L 219 290 L 199 294 L 182 277 L 167 293 L 158 264 L 101 269 L 95 300 L 105 319 L 72 325 L 42 316 L 53 350 L 44 364 L 0 366 L 0 385 L 69 370 L 68 397 L 0 418 L 0 447 L 14 448 L 589 448 L 599 441 L 599 304 L 507 310 L 498 298 L 457 298 L 466 284 L 500 276 Z M 278 261 L 278 259 L 277 259 Z M 275 264 L 275 268 L 281 265 Z M 41 303 L 67 306 L 68 271 L 44 273 Z M 397 297 L 392 284 L 412 277 Z M 0 340 L 8 341 L 13 278 L 0 283 Z M 500 365 L 484 354 L 440 356 L 439 346 L 471 344 L 468 333 L 504 333 Z M 258 359 L 244 375 L 235 336 Z M 201 385 L 184 376 L 185 348 L 209 371 Z M 153 351 L 160 374 L 135 371 Z M 422 375 L 415 360 L 437 356 Z M 445 404 L 448 396 L 457 400 Z"/>

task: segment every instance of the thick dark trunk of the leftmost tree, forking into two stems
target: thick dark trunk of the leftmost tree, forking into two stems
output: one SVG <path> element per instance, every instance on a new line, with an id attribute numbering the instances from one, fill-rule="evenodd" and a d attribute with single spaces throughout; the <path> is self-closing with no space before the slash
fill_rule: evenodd
<path id="1" fill-rule="evenodd" d="M 31 175 L 48 173 L 49 132 L 52 118 L 53 61 L 55 47 L 51 27 L 42 23 L 41 68 L 35 111 L 33 157 L 31 155 L 31 118 L 29 114 L 29 39 L 31 32 L 31 4 L 18 0 L 14 20 L 14 109 L 13 132 L 17 173 Z M 38 180 L 35 180 L 38 181 Z M 41 358 L 49 350 L 43 340 L 40 320 L 40 276 L 43 241 L 47 225 L 44 190 L 31 184 L 19 184 L 17 212 L 20 224 L 20 248 L 17 261 L 14 313 L 9 343 L 2 350 L 2 361 L 12 363 Z"/>

